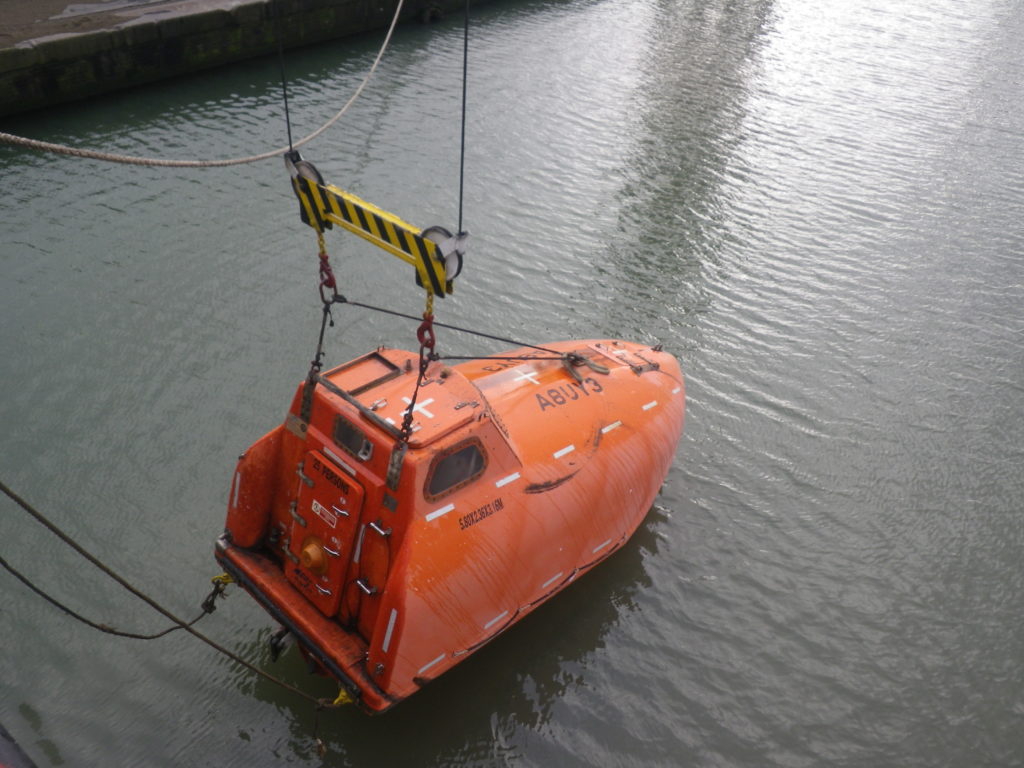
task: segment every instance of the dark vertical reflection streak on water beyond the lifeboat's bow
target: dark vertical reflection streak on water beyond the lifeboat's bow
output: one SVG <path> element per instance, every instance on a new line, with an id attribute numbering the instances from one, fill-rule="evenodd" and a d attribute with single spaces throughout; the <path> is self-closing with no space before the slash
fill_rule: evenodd
<path id="1" fill-rule="evenodd" d="M 668 319 L 707 310 L 701 272 L 735 243 L 724 189 L 748 170 L 737 167 L 737 129 L 771 8 L 662 3 L 651 13 L 637 95 L 642 138 L 626 158 L 629 181 L 607 246 L 630 297 L 616 321 L 635 333 L 674 335 Z"/>

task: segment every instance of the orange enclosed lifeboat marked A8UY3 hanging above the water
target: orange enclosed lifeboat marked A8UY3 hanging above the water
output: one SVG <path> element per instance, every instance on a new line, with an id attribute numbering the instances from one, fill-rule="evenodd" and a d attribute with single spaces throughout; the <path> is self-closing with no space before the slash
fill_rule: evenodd
<path id="1" fill-rule="evenodd" d="M 683 427 L 676 359 L 620 341 L 432 362 L 378 349 L 301 385 L 239 461 L 217 560 L 381 712 L 620 548 Z"/>

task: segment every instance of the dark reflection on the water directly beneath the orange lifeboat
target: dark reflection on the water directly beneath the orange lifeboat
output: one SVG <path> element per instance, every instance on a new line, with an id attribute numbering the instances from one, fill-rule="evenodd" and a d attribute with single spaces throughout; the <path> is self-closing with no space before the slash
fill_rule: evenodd
<path id="1" fill-rule="evenodd" d="M 334 756 L 331 760 L 349 765 L 408 764 L 411 743 L 425 765 L 522 758 L 514 739 L 503 744 L 501 734 L 523 728 L 543 732 L 554 705 L 566 692 L 586 686 L 595 650 L 638 609 L 637 594 L 651 586 L 645 562 L 657 555 L 658 529 L 666 522 L 665 512 L 655 506 L 637 534 L 608 560 L 388 714 L 370 718 L 355 708 L 322 713 L 317 733 Z M 311 695 L 337 694 L 328 680 L 306 674 L 297 648 L 270 663 L 270 630 L 257 635 L 241 643 L 238 652 L 260 659 L 261 669 Z M 296 752 L 312 757 L 314 714 L 309 703 L 262 678 L 244 673 L 232 673 L 231 678 L 243 692 L 275 705 L 289 723 Z M 496 694 L 503 701 L 500 713 L 493 707 Z M 438 710 L 451 725 L 424 729 L 424 722 L 437 722 Z"/>

